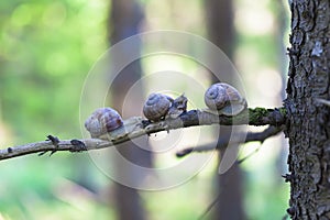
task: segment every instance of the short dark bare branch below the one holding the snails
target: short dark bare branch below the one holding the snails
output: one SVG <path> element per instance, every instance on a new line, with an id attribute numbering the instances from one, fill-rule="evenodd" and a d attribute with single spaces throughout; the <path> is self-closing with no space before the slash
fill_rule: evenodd
<path id="1" fill-rule="evenodd" d="M 213 150 L 222 150 L 226 148 L 229 144 L 242 144 L 248 142 L 261 142 L 263 143 L 266 139 L 278 134 L 283 131 L 283 127 L 268 127 L 262 132 L 248 132 L 245 140 L 229 140 L 229 138 L 219 139 L 217 146 L 215 144 L 205 144 L 196 147 L 187 147 L 176 153 L 177 157 L 184 157 L 193 152 L 208 152 Z"/>

